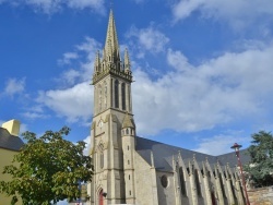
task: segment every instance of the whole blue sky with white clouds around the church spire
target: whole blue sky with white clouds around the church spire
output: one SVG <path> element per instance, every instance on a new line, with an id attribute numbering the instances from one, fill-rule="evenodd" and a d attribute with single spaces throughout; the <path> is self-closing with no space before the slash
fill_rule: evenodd
<path id="1" fill-rule="evenodd" d="M 90 142 L 105 0 L 0 0 L 0 122 Z M 272 0 L 114 1 L 138 135 L 207 154 L 273 130 Z"/>

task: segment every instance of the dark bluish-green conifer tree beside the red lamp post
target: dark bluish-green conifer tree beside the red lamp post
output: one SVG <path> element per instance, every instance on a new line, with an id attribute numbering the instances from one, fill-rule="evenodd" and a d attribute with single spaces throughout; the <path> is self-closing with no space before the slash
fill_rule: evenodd
<path id="1" fill-rule="evenodd" d="M 260 131 L 252 134 L 252 145 L 248 148 L 251 160 L 245 166 L 254 186 L 273 185 L 273 135 Z"/>

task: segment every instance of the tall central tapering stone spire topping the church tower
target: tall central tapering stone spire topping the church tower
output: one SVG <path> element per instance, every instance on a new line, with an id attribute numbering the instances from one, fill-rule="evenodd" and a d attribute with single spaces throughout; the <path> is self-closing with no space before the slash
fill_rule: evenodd
<path id="1" fill-rule="evenodd" d="M 115 19 L 112 14 L 112 10 L 110 10 L 109 22 L 107 27 L 107 35 L 105 40 L 105 56 L 104 59 L 107 62 L 120 61 L 119 55 L 119 44 L 118 44 L 118 35 L 116 31 Z"/>

